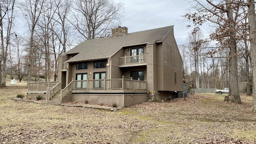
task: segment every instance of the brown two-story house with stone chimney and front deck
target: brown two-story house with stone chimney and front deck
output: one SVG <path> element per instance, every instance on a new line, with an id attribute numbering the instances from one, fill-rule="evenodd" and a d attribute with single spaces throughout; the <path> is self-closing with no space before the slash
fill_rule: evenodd
<path id="1" fill-rule="evenodd" d="M 86 40 L 58 59 L 58 88 L 48 102 L 88 100 L 130 106 L 148 99 L 148 91 L 183 92 L 182 58 L 174 26 Z M 54 89 L 54 90 L 53 90 Z"/>

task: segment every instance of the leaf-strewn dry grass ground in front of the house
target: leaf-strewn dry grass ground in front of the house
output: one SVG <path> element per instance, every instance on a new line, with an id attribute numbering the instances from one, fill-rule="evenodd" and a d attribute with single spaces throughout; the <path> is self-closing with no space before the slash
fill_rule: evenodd
<path id="1" fill-rule="evenodd" d="M 26 94 L 24 86 L 0 89 L 1 144 L 256 143 L 252 96 L 234 104 L 224 95 L 195 94 L 110 111 L 11 100 L 17 94 Z"/>

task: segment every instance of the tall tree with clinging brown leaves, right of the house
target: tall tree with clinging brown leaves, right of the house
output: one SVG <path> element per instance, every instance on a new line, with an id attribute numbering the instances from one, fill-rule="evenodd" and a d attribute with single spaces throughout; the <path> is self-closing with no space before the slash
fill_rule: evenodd
<path id="1" fill-rule="evenodd" d="M 212 40 L 216 40 L 219 44 L 230 48 L 230 100 L 232 102 L 241 103 L 240 94 L 238 92 L 238 63 L 237 63 L 237 46 L 239 39 L 236 37 L 236 20 L 239 16 L 239 3 L 232 3 L 231 0 L 202 2 L 194 0 L 197 6 L 194 7 L 191 14 L 184 15 L 188 20 L 194 23 L 195 31 L 199 30 L 200 25 L 210 22 L 215 26 L 215 32 L 210 35 Z M 214 3 L 213 3 L 214 2 Z M 233 16 L 234 14 L 234 16 Z"/>

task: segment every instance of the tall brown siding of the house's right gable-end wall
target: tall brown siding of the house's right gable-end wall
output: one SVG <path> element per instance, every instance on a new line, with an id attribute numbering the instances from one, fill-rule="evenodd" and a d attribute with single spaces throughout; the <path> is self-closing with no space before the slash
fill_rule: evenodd
<path id="1" fill-rule="evenodd" d="M 182 59 L 176 45 L 173 31 L 171 31 L 162 44 L 157 46 L 158 56 L 158 90 L 183 91 Z M 176 84 L 174 73 L 176 72 Z"/>

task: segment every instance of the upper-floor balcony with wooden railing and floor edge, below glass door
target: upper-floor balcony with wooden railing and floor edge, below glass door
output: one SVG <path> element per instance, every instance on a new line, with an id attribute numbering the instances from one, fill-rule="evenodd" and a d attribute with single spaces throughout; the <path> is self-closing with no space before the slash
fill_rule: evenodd
<path id="1" fill-rule="evenodd" d="M 123 56 L 119 58 L 119 67 L 147 65 L 147 55 Z"/>

